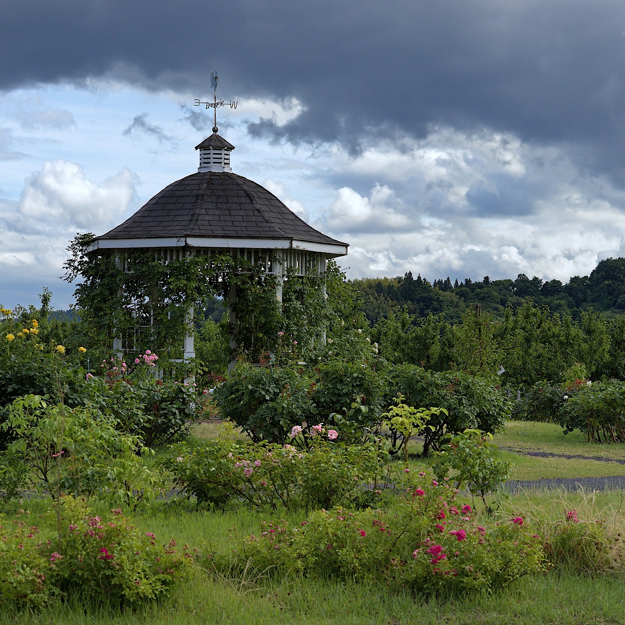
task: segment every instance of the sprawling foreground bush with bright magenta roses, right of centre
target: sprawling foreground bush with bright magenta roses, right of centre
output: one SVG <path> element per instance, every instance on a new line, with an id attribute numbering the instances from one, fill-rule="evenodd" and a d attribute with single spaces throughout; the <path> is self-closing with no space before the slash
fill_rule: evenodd
<path id="1" fill-rule="evenodd" d="M 542 569 L 542 544 L 522 517 L 478 526 L 447 484 L 422 476 L 389 509 L 313 512 L 299 527 L 264 524 L 234 566 L 379 581 L 434 592 L 501 587 Z M 232 556 L 212 554 L 217 567 Z"/>

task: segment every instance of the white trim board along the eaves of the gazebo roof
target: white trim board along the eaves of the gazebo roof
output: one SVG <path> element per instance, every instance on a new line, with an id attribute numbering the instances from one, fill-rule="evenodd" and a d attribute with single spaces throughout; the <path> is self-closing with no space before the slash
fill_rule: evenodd
<path id="1" fill-rule="evenodd" d="M 346 244 L 313 243 L 297 239 L 225 239 L 217 237 L 153 237 L 149 239 L 98 239 L 88 252 L 96 249 L 129 249 L 136 247 L 225 247 L 247 249 L 298 249 L 307 252 L 323 252 L 331 256 L 346 256 Z"/>

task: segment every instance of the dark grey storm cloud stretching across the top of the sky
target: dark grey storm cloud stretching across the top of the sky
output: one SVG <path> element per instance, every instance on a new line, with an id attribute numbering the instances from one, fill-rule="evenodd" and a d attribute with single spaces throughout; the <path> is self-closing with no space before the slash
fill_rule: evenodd
<path id="1" fill-rule="evenodd" d="M 250 131 L 352 150 L 372 129 L 430 124 L 566 143 L 595 169 L 625 158 L 625 4 L 617 0 L 143 0 L 2 9 L 0 88 L 117 76 L 306 110 Z M 191 120 L 190 120 L 191 121 Z"/>

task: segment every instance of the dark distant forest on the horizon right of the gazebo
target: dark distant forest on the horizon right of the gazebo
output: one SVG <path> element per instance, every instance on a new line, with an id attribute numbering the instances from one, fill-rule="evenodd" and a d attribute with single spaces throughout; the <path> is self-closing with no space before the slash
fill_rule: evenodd
<path id="1" fill-rule="evenodd" d="M 433 282 L 411 271 L 404 276 L 362 278 L 350 281 L 361 295 L 361 308 L 369 323 L 376 324 L 389 314 L 404 308 L 414 322 L 429 314 L 444 314 L 449 322 L 460 321 L 469 307 L 501 317 L 507 306 L 521 306 L 530 297 L 536 306 L 549 307 L 552 313 L 579 319 L 592 309 L 607 316 L 625 314 L 625 258 L 608 258 L 599 262 L 589 276 L 573 276 L 566 284 L 559 280 L 543 282 L 539 277 L 519 274 L 516 279 L 479 282 L 470 278 L 452 282 L 449 277 Z"/>

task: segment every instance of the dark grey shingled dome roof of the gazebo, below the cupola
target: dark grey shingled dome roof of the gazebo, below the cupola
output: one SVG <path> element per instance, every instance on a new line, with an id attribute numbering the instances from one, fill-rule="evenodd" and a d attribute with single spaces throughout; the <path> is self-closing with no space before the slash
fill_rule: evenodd
<path id="1" fill-rule="evenodd" d="M 124 247 L 119 239 L 172 237 L 267 239 L 267 247 L 274 247 L 271 240 L 290 239 L 344 247 L 337 255 L 346 254 L 348 245 L 309 226 L 261 185 L 225 171 L 197 172 L 170 184 L 96 241 L 108 247 L 114 239 Z"/>

